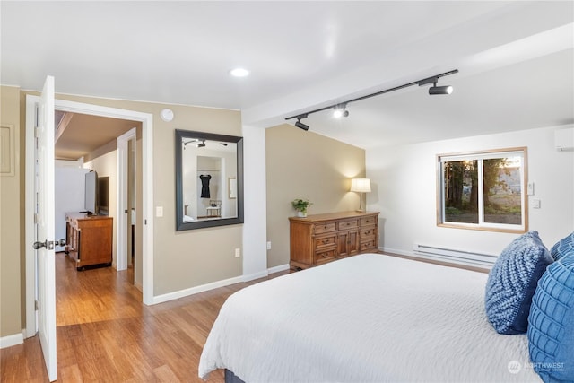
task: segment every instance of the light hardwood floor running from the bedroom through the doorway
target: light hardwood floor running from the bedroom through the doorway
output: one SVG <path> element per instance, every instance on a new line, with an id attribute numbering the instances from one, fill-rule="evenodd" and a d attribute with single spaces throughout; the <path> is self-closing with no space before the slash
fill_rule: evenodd
<path id="1" fill-rule="evenodd" d="M 252 284 L 144 306 L 131 269 L 77 272 L 57 253 L 56 273 L 57 381 L 74 383 L 203 381 L 197 364 L 219 309 L 231 293 Z M 38 336 L 0 356 L 2 382 L 48 381 Z M 222 370 L 209 381 L 223 381 Z"/>

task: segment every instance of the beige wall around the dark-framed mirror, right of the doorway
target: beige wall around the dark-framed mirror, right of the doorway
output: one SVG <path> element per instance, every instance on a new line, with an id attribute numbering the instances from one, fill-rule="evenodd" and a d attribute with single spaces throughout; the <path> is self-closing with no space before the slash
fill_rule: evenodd
<path id="1" fill-rule="evenodd" d="M 241 275 L 242 225 L 194 231 L 175 231 L 175 129 L 222 135 L 241 135 L 239 111 L 170 105 L 175 118 L 161 120 L 165 104 L 57 95 L 73 100 L 153 115 L 153 199 L 163 206 L 163 217 L 154 218 L 154 295 Z M 141 214 L 139 214 L 141 215 Z"/>

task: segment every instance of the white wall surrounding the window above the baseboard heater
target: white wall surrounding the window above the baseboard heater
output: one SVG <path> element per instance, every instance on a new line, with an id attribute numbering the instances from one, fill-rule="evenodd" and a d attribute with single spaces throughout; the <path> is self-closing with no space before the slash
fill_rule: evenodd
<path id="1" fill-rule="evenodd" d="M 535 196 L 529 199 L 542 201 L 540 209 L 529 208 L 529 230 L 538 231 L 551 248 L 574 231 L 574 152 L 555 149 L 555 130 L 547 127 L 367 150 L 367 177 L 373 184 L 367 207 L 381 212 L 379 246 L 404 255 L 413 255 L 415 243 L 500 254 L 517 234 L 437 226 L 436 155 L 526 146 L 528 181 L 535 183 Z"/>

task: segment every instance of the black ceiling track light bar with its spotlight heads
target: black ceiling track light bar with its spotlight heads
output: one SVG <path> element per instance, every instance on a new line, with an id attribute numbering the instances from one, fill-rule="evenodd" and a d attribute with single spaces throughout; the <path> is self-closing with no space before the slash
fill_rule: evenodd
<path id="1" fill-rule="evenodd" d="M 390 89 L 386 89 L 384 91 L 378 91 L 376 93 L 367 94 L 366 96 L 361 96 L 361 97 L 358 97 L 356 99 L 345 101 L 343 103 L 330 105 L 330 106 L 325 107 L 325 108 L 310 110 L 309 112 L 306 112 L 306 113 L 303 113 L 300 115 L 291 116 L 291 117 L 288 117 L 285 119 L 290 120 L 291 118 L 297 118 L 297 122 L 295 123 L 295 126 L 299 127 L 300 129 L 303 129 L 303 130 L 309 130 L 309 126 L 303 124 L 301 122 L 301 119 L 307 118 L 309 116 L 309 114 L 311 114 L 311 113 L 317 113 L 317 112 L 320 112 L 320 111 L 323 111 L 326 109 L 335 109 L 335 111 L 333 112 L 333 116 L 335 118 L 347 117 L 347 116 L 349 116 L 349 111 L 346 110 L 346 107 L 347 107 L 347 104 L 349 102 L 369 99 L 371 97 L 375 97 L 375 96 L 379 96 L 381 94 L 388 93 L 389 91 L 398 91 L 399 89 L 403 89 L 403 88 L 406 88 L 408 86 L 413 86 L 413 85 L 422 86 L 422 85 L 426 85 L 428 83 L 432 83 L 432 86 L 429 88 L 429 94 L 432 94 L 432 95 L 434 95 L 434 94 L 450 94 L 453 91 L 452 86 L 450 86 L 450 85 L 437 86 L 437 82 L 439 81 L 440 77 L 448 76 L 450 74 L 457 74 L 457 73 L 458 73 L 458 69 L 453 69 L 452 71 L 448 71 L 448 72 L 445 72 L 443 74 L 436 74 L 434 76 L 427 77 L 427 78 L 424 78 L 422 80 L 413 81 L 413 83 L 405 83 L 403 85 L 396 86 L 395 88 L 390 88 Z"/>

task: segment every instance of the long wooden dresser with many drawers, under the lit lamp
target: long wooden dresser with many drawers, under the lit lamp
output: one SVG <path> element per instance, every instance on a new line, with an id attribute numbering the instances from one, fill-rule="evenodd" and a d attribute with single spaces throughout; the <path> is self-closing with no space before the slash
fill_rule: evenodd
<path id="1" fill-rule="evenodd" d="M 291 269 L 378 251 L 378 212 L 290 217 Z"/>

